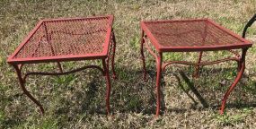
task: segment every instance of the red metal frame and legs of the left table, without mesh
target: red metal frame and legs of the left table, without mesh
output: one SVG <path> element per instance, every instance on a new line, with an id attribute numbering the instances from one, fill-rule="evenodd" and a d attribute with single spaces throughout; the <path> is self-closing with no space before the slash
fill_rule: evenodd
<path id="1" fill-rule="evenodd" d="M 80 18 L 72 18 L 72 19 L 80 19 Z M 68 19 L 55 19 L 55 20 L 43 20 L 43 21 L 56 21 L 56 20 L 68 20 Z M 30 76 L 30 75 L 54 75 L 54 76 L 57 76 L 57 75 L 65 75 L 68 73 L 76 73 L 79 71 L 83 71 L 85 69 L 98 69 L 99 71 L 101 71 L 103 76 L 105 76 L 106 88 L 107 88 L 106 96 L 105 96 L 106 111 L 107 111 L 107 114 L 110 114 L 110 90 L 111 90 L 110 70 L 109 70 L 110 65 L 111 65 L 111 70 L 112 70 L 112 74 L 113 74 L 112 77 L 114 79 L 117 78 L 116 72 L 115 72 L 115 64 L 114 64 L 115 52 L 116 52 L 116 38 L 115 38 L 114 31 L 112 30 L 112 27 L 110 26 L 110 28 L 108 29 L 108 32 L 107 32 L 107 35 L 109 35 L 110 38 L 107 38 L 107 40 L 105 41 L 105 43 L 107 43 L 108 46 L 104 47 L 104 50 L 103 50 L 104 54 L 102 54 L 100 56 L 93 56 L 93 55 L 92 56 L 62 56 L 62 57 L 53 56 L 53 57 L 38 57 L 38 58 L 35 58 L 35 60 L 33 60 L 32 58 L 13 59 L 13 56 L 15 56 L 15 54 L 26 43 L 26 41 L 31 37 L 31 35 L 39 28 L 40 24 L 43 21 L 38 23 L 36 28 L 31 31 L 31 33 L 29 34 L 27 39 L 25 39 L 23 41 L 23 43 L 16 49 L 14 54 L 12 56 L 10 56 L 7 60 L 8 64 L 11 64 L 17 73 L 18 80 L 20 82 L 20 86 L 22 88 L 23 93 L 40 108 L 40 113 L 43 115 L 45 111 L 44 111 L 44 108 L 42 107 L 42 105 L 40 104 L 40 101 L 35 99 L 31 95 L 30 91 L 28 91 L 25 87 L 26 78 L 28 76 Z M 110 22 L 110 24 L 111 24 L 113 21 L 112 15 L 110 15 L 110 21 L 111 21 Z M 86 65 L 86 66 L 77 68 L 75 70 L 64 72 L 62 69 L 62 66 L 60 64 L 61 62 L 66 62 L 66 61 L 82 61 L 82 60 L 102 60 L 102 67 L 98 66 L 98 65 Z M 110 61 L 111 61 L 111 63 L 110 63 Z M 49 63 L 49 62 L 56 62 L 59 72 L 57 72 L 57 73 L 28 72 L 28 73 L 22 74 L 22 67 L 25 64 L 39 64 L 39 63 Z"/>

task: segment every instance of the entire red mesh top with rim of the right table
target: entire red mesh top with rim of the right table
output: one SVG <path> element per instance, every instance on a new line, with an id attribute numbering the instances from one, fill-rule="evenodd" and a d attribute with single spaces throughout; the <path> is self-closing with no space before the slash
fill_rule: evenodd
<path id="1" fill-rule="evenodd" d="M 252 43 L 208 19 L 141 22 L 156 50 L 205 51 L 252 47 Z"/>

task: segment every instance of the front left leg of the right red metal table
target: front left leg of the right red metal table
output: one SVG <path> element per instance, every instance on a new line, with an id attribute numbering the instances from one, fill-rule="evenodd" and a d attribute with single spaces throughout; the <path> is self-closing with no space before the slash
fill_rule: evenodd
<path id="1" fill-rule="evenodd" d="M 161 93 L 160 93 L 160 83 L 161 83 L 161 73 L 162 73 L 162 57 L 163 54 L 159 53 L 156 59 L 156 113 L 155 116 L 158 116 L 160 113 L 160 98 L 161 98 Z"/>

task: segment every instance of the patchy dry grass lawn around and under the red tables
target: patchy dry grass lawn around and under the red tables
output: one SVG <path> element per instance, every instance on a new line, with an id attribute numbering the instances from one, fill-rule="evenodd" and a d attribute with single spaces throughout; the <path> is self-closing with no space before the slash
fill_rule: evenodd
<path id="1" fill-rule="evenodd" d="M 163 76 L 162 116 L 154 118 L 155 66 L 146 53 L 147 81 L 142 80 L 139 55 L 139 22 L 142 20 L 207 17 L 241 34 L 256 12 L 255 0 L 2 0 L 0 1 L 0 128 L 253 128 L 256 119 L 255 47 L 248 51 L 242 81 L 227 102 L 224 116 L 218 107 L 226 88 L 233 82 L 234 63 L 214 64 L 191 77 L 191 66 L 172 65 Z M 105 81 L 101 73 L 86 70 L 61 77 L 31 76 L 26 87 L 45 107 L 45 116 L 26 98 L 6 57 L 22 42 L 36 22 L 45 18 L 114 14 L 117 37 L 116 72 L 111 80 L 111 112 L 105 116 Z M 248 39 L 256 40 L 256 25 Z M 226 56 L 208 52 L 203 60 Z M 164 59 L 196 61 L 197 53 L 168 54 Z M 63 63 L 73 69 L 91 62 Z M 99 64 L 99 62 L 92 62 Z M 57 64 L 29 65 L 25 70 L 52 71 Z M 183 74 L 180 74 L 183 71 Z M 180 82 L 179 82 L 180 80 Z M 183 88 L 182 88 L 183 87 Z M 191 88 L 199 91 L 193 94 Z M 205 99 L 208 107 L 204 107 Z"/>

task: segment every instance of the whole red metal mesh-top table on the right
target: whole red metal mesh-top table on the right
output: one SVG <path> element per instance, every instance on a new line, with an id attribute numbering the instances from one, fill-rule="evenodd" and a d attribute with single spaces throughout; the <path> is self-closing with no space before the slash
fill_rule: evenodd
<path id="1" fill-rule="evenodd" d="M 161 73 L 169 64 L 190 64 L 196 65 L 195 76 L 199 75 L 199 66 L 207 64 L 217 64 L 225 61 L 236 61 L 238 73 L 234 83 L 225 92 L 222 100 L 220 113 L 223 114 L 225 102 L 235 85 L 241 79 L 245 68 L 245 55 L 252 43 L 242 37 L 227 30 L 216 22 L 209 19 L 193 20 L 166 20 L 141 22 L 141 56 L 143 61 L 144 79 L 146 78 L 146 63 L 144 56 L 144 45 L 148 52 L 156 60 L 156 116 L 160 111 L 160 82 Z M 150 47 L 146 39 L 152 43 L 154 50 Z M 242 49 L 242 55 L 234 49 Z M 213 62 L 201 62 L 203 51 L 229 50 L 234 57 L 224 58 Z M 163 53 L 165 52 L 199 52 L 197 63 L 186 61 L 166 61 L 163 63 Z"/>

